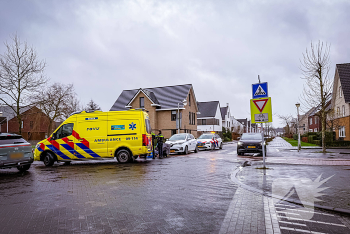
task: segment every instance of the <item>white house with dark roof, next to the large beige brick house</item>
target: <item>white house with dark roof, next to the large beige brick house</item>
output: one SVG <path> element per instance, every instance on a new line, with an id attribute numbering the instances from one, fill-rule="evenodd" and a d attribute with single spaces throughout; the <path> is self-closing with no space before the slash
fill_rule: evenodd
<path id="1" fill-rule="evenodd" d="M 218 101 L 197 102 L 197 106 L 200 113 L 197 114 L 197 136 L 215 132 L 222 137 L 220 103 Z"/>

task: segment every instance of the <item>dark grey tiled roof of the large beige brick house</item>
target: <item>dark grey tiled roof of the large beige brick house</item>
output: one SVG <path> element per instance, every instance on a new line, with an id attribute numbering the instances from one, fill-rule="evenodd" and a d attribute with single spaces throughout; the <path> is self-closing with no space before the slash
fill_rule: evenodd
<path id="1" fill-rule="evenodd" d="M 159 104 L 161 106 L 160 109 L 177 109 L 177 103 L 187 98 L 187 95 L 191 87 L 192 85 L 188 84 L 188 85 L 146 88 L 142 90 L 149 92 L 149 96 L 152 99 L 152 101 L 154 98 L 154 101 L 156 100 L 158 102 L 156 104 Z M 131 101 L 131 99 L 135 96 L 138 90 L 139 89 L 123 90 L 109 111 L 128 110 L 128 108 L 125 108 L 125 106 Z M 195 98 L 194 98 L 194 101 L 195 101 Z M 183 104 L 180 103 L 179 107 L 182 108 Z"/>

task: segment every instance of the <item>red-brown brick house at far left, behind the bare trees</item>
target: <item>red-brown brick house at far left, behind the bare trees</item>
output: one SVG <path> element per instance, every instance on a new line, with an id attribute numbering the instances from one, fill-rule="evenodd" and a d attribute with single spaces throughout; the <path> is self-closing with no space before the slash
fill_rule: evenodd
<path id="1" fill-rule="evenodd" d="M 8 106 L 1 106 L 0 112 L 0 132 L 9 132 L 18 134 L 18 120 L 15 112 Z M 48 118 L 35 106 L 21 109 L 22 117 L 22 136 L 28 141 L 39 141 L 47 137 Z M 7 119 L 8 117 L 8 124 Z M 8 129 L 7 129 L 8 125 Z"/>

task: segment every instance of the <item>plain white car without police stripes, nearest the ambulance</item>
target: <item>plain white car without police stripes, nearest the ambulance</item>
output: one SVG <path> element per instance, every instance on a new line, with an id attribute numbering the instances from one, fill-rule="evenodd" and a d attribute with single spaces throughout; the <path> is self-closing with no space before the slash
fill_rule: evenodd
<path id="1" fill-rule="evenodd" d="M 172 135 L 165 143 L 170 145 L 170 153 L 198 152 L 197 141 L 192 134 L 180 133 Z"/>

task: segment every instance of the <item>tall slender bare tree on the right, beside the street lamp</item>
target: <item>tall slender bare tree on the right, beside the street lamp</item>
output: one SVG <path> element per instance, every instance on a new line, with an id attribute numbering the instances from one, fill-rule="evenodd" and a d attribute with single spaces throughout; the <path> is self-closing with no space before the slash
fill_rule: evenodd
<path id="1" fill-rule="evenodd" d="M 302 54 L 300 70 L 302 79 L 306 81 L 303 86 L 301 102 L 303 108 L 311 109 L 319 106 L 319 120 L 322 126 L 322 151 L 325 152 L 325 131 L 326 131 L 326 104 L 332 92 L 332 79 L 329 77 L 330 46 L 318 41 L 316 45 L 311 42 L 311 49 Z"/>

